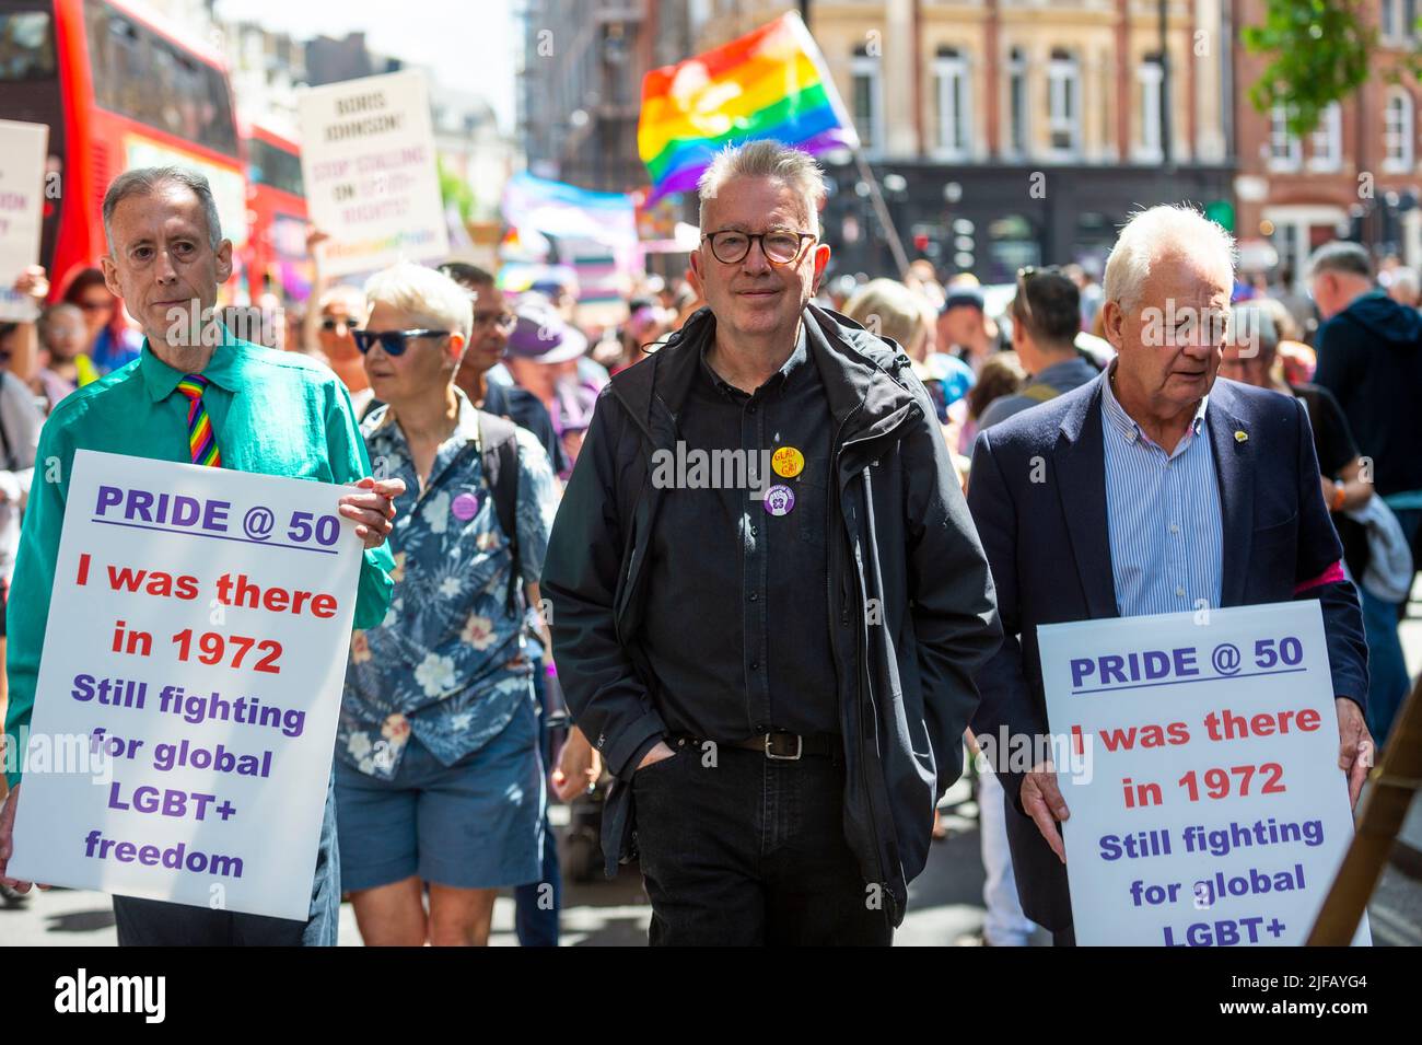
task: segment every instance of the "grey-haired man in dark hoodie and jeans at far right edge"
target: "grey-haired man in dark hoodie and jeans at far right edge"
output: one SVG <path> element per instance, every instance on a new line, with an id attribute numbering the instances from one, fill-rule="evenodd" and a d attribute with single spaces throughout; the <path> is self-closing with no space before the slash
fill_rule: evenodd
<path id="1" fill-rule="evenodd" d="M 1338 400 L 1352 428 L 1374 489 L 1392 509 L 1422 559 L 1422 314 L 1388 297 L 1374 279 L 1372 257 L 1358 243 L 1325 243 L 1308 262 L 1310 291 L 1324 317 L 1314 381 Z M 1355 579 L 1361 580 L 1361 579 Z M 1398 607 L 1361 583 L 1368 630 L 1368 718 L 1385 742 L 1398 707 L 1412 688 Z"/>

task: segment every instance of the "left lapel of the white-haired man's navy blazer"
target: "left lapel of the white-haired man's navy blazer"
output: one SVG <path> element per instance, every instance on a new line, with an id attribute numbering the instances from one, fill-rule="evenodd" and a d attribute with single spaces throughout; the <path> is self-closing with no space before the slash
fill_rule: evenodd
<path id="1" fill-rule="evenodd" d="M 1098 378 L 1098 382 L 1101 378 Z M 1092 618 L 1116 617 L 1116 582 L 1106 529 L 1106 461 L 1101 431 L 1101 388 L 1062 418 L 1052 448 L 1057 496 L 1071 537 L 1076 576 Z"/>

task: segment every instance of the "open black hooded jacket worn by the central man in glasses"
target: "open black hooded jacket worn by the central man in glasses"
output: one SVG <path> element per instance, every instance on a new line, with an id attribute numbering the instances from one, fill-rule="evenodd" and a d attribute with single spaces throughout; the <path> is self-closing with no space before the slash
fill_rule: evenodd
<path id="1" fill-rule="evenodd" d="M 1001 628 L 983 546 L 909 358 L 813 304 L 803 318 L 836 431 L 829 515 L 842 527 L 826 543 L 845 836 L 897 924 L 927 860 L 934 803 L 963 769 L 963 731 L 978 702 L 973 672 Z M 603 815 L 609 873 L 631 856 L 634 759 L 665 729 L 638 645 L 661 499 L 648 482 L 651 455 L 674 451 L 714 331 L 702 309 L 603 390 L 543 564 L 559 680 L 617 776 Z M 694 606 L 685 617 L 688 637 L 708 626 Z"/>

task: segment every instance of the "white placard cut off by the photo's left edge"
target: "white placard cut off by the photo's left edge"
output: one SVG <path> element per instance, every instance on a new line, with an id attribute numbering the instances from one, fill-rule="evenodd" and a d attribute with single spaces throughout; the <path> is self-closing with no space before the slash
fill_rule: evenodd
<path id="1" fill-rule="evenodd" d="M 40 262 L 44 220 L 44 151 L 50 128 L 0 119 L 0 320 L 28 323 L 34 301 L 14 282 Z"/>

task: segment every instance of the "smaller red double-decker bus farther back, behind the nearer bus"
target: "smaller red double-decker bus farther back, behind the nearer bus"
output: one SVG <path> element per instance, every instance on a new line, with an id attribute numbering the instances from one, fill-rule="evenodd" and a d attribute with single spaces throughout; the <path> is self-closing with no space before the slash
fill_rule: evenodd
<path id="1" fill-rule="evenodd" d="M 303 301 L 311 293 L 311 266 L 306 250 L 301 148 L 272 128 L 252 124 L 246 151 L 252 300 L 257 301 L 270 291 L 286 300 Z"/>

